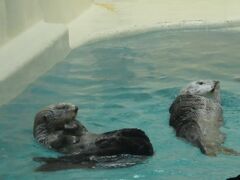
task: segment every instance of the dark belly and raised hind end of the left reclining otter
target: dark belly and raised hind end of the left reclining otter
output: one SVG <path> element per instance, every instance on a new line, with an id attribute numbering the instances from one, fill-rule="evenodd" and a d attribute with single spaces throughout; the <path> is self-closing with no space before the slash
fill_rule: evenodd
<path id="1" fill-rule="evenodd" d="M 147 135 L 139 129 L 120 129 L 94 134 L 86 132 L 79 141 L 61 149 L 66 154 L 85 153 L 106 156 L 117 154 L 153 155 L 152 144 Z"/>

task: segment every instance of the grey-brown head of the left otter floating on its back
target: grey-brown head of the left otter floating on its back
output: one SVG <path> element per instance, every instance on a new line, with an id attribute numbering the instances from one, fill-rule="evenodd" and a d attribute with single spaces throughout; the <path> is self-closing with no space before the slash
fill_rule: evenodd
<path id="1" fill-rule="evenodd" d="M 65 124 L 75 120 L 78 107 L 70 103 L 53 104 L 38 112 L 34 127 L 45 124 L 49 130 L 63 129 Z"/>

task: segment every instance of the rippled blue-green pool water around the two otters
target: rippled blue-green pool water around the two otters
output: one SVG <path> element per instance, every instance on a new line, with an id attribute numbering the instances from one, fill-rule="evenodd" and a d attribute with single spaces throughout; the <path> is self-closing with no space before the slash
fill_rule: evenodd
<path id="1" fill-rule="evenodd" d="M 240 157 L 207 157 L 177 139 L 168 108 L 181 87 L 221 81 L 225 145 L 240 151 L 240 34 L 224 29 L 161 30 L 79 47 L 9 104 L 0 107 L 0 179 L 226 179 Z M 34 156 L 56 156 L 32 137 L 35 113 L 56 102 L 79 106 L 78 120 L 101 133 L 137 127 L 155 155 L 120 169 L 33 171 Z"/>

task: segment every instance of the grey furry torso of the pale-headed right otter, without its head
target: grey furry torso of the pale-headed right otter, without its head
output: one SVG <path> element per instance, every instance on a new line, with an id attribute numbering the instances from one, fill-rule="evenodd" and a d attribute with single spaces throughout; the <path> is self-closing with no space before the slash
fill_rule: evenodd
<path id="1" fill-rule="evenodd" d="M 219 130 L 222 110 L 218 103 L 202 96 L 180 95 L 170 107 L 170 126 L 176 135 L 200 148 L 204 154 L 217 153 L 224 141 Z"/>

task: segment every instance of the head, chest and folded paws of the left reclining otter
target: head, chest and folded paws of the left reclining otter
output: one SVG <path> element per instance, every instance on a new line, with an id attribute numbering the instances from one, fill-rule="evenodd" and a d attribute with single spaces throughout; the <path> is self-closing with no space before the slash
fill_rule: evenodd
<path id="1" fill-rule="evenodd" d="M 34 138 L 48 148 L 64 151 L 64 147 L 79 141 L 79 133 L 86 131 L 86 128 L 75 120 L 77 111 L 78 107 L 70 103 L 44 108 L 35 116 Z"/>

